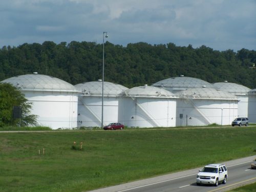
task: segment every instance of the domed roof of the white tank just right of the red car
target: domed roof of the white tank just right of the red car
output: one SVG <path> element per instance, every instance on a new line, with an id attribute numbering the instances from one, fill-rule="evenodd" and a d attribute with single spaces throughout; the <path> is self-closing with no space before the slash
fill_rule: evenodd
<path id="1" fill-rule="evenodd" d="M 147 85 L 128 89 L 125 91 L 125 95 L 132 97 L 174 97 L 174 94 L 168 90 Z"/>

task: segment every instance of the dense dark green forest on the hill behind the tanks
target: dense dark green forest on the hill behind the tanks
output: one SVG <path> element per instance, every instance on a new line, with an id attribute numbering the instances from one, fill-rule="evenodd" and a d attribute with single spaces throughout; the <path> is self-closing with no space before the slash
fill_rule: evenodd
<path id="1" fill-rule="evenodd" d="M 73 85 L 102 79 L 102 44 L 96 42 L 45 41 L 42 44 L 4 46 L 0 50 L 0 81 L 24 74 L 49 75 Z M 227 80 L 256 88 L 256 51 L 216 51 L 202 45 L 151 45 L 144 42 L 127 46 L 106 42 L 104 80 L 126 87 L 151 85 L 184 75 L 210 83 Z"/>

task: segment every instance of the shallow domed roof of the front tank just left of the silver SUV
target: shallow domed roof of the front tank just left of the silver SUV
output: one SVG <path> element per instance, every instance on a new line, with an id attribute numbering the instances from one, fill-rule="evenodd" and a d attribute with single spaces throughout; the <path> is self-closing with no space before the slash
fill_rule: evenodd
<path id="1" fill-rule="evenodd" d="M 235 95 L 229 92 L 207 87 L 190 88 L 182 90 L 178 94 L 180 98 L 238 100 Z"/>

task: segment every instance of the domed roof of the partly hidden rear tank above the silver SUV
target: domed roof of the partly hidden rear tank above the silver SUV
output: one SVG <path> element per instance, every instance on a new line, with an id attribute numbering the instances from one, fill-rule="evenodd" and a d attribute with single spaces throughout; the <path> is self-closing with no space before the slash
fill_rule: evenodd
<path id="1" fill-rule="evenodd" d="M 218 90 L 227 91 L 232 94 L 248 94 L 251 90 L 250 88 L 237 84 L 237 83 L 229 83 L 229 82 L 219 82 L 212 84 Z"/>

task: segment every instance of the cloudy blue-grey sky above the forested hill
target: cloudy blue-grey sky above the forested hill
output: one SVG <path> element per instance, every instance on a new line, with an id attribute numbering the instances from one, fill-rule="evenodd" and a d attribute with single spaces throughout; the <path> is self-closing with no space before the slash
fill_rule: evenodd
<path id="1" fill-rule="evenodd" d="M 0 47 L 105 39 L 256 50 L 256 0 L 0 0 Z"/>

